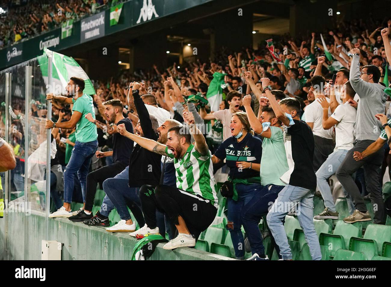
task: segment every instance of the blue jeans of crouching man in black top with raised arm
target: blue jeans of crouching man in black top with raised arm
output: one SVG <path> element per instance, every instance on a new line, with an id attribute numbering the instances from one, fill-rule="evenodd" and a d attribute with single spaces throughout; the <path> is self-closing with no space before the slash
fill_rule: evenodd
<path id="1" fill-rule="evenodd" d="M 117 209 L 121 219 L 131 219 L 126 202 L 133 201 L 141 209 L 141 201 L 138 196 L 138 187 L 129 187 L 129 166 L 113 178 L 103 182 L 103 190 L 106 196 Z M 106 198 L 105 196 L 105 198 Z M 104 202 L 103 202 L 104 203 Z M 103 205 L 102 203 L 102 205 Z"/>

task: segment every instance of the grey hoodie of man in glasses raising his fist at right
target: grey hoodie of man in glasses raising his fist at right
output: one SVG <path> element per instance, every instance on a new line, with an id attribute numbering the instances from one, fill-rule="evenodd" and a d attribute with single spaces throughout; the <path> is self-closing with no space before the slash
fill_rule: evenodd
<path id="1" fill-rule="evenodd" d="M 362 80 L 359 60 L 360 56 L 353 55 L 349 77 L 350 84 L 360 97 L 354 133 L 357 141 L 376 141 L 383 127 L 375 114 L 384 114 L 386 110 L 386 87 Z"/>

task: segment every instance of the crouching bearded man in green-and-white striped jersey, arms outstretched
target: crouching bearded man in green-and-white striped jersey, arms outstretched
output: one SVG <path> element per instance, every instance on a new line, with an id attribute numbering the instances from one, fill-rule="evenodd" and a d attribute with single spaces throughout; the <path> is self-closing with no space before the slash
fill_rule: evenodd
<path id="1" fill-rule="evenodd" d="M 184 112 L 183 119 L 188 123 L 190 132 L 182 125 L 170 128 L 167 145 L 130 134 L 118 126 L 122 135 L 133 139 L 143 148 L 174 159 L 176 187 L 158 185 L 148 193 L 140 193 L 146 231 L 153 233 L 156 230 L 156 209 L 164 210 L 178 229 L 178 236 L 166 243 L 164 249 L 195 246 L 199 235 L 208 228 L 217 213 L 217 185 L 213 176 L 212 153 L 208 150 L 203 134 L 194 124 L 192 112 Z M 190 141 L 191 135 L 194 144 Z M 137 230 L 134 234 L 145 230 Z"/>

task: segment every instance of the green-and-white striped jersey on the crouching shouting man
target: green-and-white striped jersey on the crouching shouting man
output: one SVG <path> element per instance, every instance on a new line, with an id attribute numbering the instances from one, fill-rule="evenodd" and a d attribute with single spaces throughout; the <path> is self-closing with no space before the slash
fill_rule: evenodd
<path id="1" fill-rule="evenodd" d="M 174 158 L 171 150 L 166 147 L 166 154 Z M 176 170 L 176 187 L 209 200 L 217 208 L 217 185 L 213 175 L 212 153 L 207 155 L 195 150 L 190 144 L 182 159 L 174 158 Z"/>

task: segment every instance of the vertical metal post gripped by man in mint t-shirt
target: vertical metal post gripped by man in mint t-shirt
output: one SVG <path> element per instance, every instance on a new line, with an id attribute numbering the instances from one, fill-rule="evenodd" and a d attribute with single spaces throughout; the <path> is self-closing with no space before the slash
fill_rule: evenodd
<path id="1" fill-rule="evenodd" d="M 52 87 L 52 53 L 48 55 L 48 92 L 53 92 Z M 52 102 L 47 101 L 48 112 L 47 119 L 52 119 Z M 45 207 L 45 240 L 49 240 L 49 212 L 50 212 L 50 145 L 51 145 L 51 129 L 47 130 L 46 138 L 46 207 Z"/>

